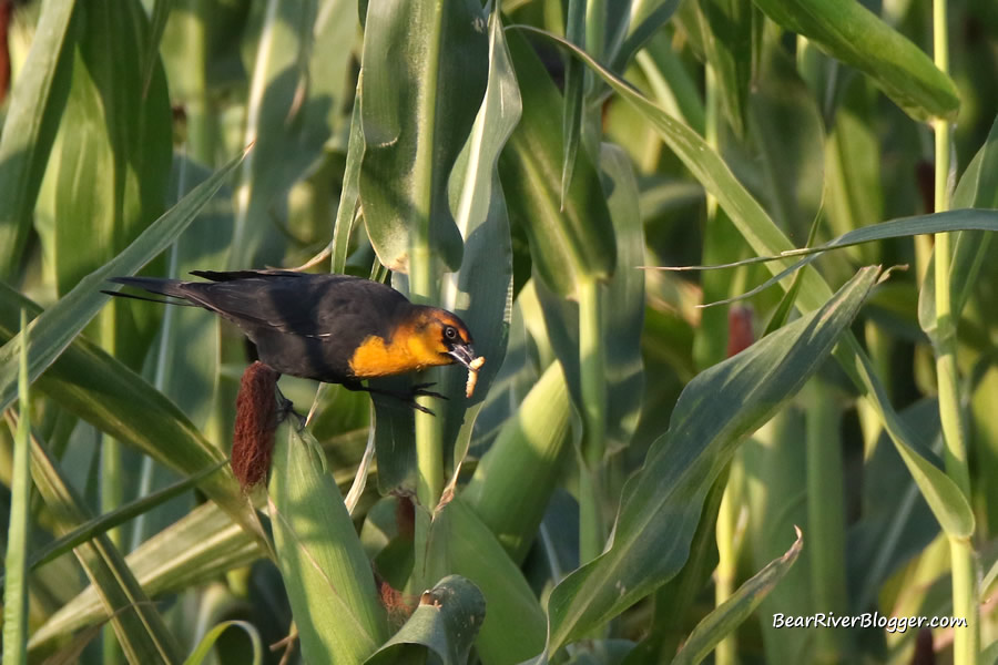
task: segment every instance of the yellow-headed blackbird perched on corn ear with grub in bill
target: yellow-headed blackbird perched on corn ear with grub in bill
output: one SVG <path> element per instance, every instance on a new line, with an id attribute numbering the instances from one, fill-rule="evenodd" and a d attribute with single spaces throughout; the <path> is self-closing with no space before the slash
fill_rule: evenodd
<path id="1" fill-rule="evenodd" d="M 259 360 L 279 374 L 342 383 L 350 390 L 384 392 L 413 408 L 417 395 L 442 397 L 414 387 L 410 393 L 365 388 L 360 381 L 406 374 L 434 365 L 481 365 L 471 334 L 454 314 L 413 305 L 397 290 L 348 275 L 288 270 L 191 273 L 208 282 L 114 277 L 111 282 L 180 298 L 159 300 L 214 311 L 242 328 L 256 345 Z"/>

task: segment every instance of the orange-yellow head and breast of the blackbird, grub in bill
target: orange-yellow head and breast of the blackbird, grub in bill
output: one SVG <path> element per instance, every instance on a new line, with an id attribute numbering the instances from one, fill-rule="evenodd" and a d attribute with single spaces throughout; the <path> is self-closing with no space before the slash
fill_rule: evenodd
<path id="1" fill-rule="evenodd" d="M 384 377 L 452 362 L 470 368 L 475 359 L 465 323 L 446 309 L 420 305 L 398 321 L 389 339 L 365 339 L 350 358 L 350 370 L 357 378 Z"/>

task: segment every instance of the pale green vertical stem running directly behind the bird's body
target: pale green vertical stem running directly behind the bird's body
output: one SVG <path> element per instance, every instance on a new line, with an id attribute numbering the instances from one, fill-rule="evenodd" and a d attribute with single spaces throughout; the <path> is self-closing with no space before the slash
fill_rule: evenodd
<path id="1" fill-rule="evenodd" d="M 440 64 L 440 40 L 444 24 L 444 1 L 432 3 L 434 33 L 427 40 L 424 85 L 419 89 L 416 113 L 421 119 L 416 140 L 416 158 L 413 173 L 413 191 L 416 193 L 414 207 L 416 219 L 409 237 L 409 291 L 416 301 L 435 303 L 439 287 L 436 278 L 435 258 L 430 245 L 430 221 L 434 202 L 434 147 L 436 145 L 437 80 Z M 420 398 L 427 402 L 427 398 Z M 439 405 L 437 405 L 439 409 Z M 416 412 L 416 498 L 419 505 L 429 513 L 416 511 L 415 566 L 413 581 L 426 585 L 426 545 L 429 539 L 430 519 L 444 491 L 444 441 L 442 420 L 428 413 Z"/>

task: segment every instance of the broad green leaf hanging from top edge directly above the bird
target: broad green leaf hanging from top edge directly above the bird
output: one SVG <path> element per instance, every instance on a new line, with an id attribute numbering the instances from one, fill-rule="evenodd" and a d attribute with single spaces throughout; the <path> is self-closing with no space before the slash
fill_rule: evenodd
<path id="1" fill-rule="evenodd" d="M 371 0 L 360 76 L 364 218 L 378 259 L 408 272 L 410 234 L 450 267 L 461 243 L 447 177 L 486 85 L 486 18 L 469 0 Z"/>

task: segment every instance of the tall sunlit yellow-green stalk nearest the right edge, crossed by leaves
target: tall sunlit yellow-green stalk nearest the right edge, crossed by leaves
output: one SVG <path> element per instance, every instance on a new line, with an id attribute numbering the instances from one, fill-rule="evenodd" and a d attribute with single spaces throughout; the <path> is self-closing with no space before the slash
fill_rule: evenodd
<path id="1" fill-rule="evenodd" d="M 933 58 L 936 66 L 949 72 L 949 41 L 946 0 L 933 3 Z M 934 122 L 936 130 L 936 212 L 949 209 L 949 167 L 953 127 L 945 119 Z M 939 421 L 943 426 L 946 473 L 970 500 L 970 473 L 956 362 L 956 329 L 950 303 L 950 235 L 936 234 L 936 380 L 939 387 Z M 966 617 L 965 628 L 954 630 L 953 662 L 976 665 L 980 654 L 977 572 L 969 540 L 949 539 L 954 616 Z"/>

